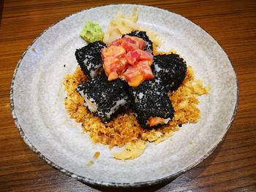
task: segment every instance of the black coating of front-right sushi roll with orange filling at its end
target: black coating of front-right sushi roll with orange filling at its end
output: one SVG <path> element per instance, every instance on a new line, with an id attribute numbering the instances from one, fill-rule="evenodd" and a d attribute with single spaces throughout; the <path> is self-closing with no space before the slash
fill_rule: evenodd
<path id="1" fill-rule="evenodd" d="M 150 117 L 170 118 L 170 120 L 173 118 L 173 105 L 165 87 L 157 78 L 146 80 L 136 88 L 129 87 L 129 94 L 132 98 L 132 108 L 137 114 L 136 118 L 141 127 L 162 126 L 149 127 L 147 120 Z"/>

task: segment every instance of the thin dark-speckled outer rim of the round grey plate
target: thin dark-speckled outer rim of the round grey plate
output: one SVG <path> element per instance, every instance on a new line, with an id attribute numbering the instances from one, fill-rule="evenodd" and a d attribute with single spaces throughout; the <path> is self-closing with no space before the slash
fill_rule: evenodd
<path id="1" fill-rule="evenodd" d="M 182 15 L 177 14 L 176 12 L 170 12 L 167 9 L 162 9 L 159 7 L 153 7 L 153 6 L 148 6 L 148 5 L 142 5 L 142 4 L 108 4 L 108 5 L 102 5 L 102 6 L 97 6 L 97 7 L 91 7 L 89 9 L 96 9 L 99 7 L 115 7 L 115 6 L 138 6 L 138 7 L 150 7 L 151 9 L 158 9 L 159 11 L 165 11 L 165 12 L 169 12 L 169 13 L 173 13 L 178 15 L 181 18 L 185 18 Z M 53 23 L 52 25 L 50 25 L 48 28 L 46 28 L 45 30 L 43 30 L 32 42 L 31 44 L 26 48 L 26 50 L 22 53 L 22 55 L 20 56 L 20 59 L 18 61 L 18 64 L 15 67 L 15 70 L 13 72 L 12 75 L 12 81 L 11 81 L 11 86 L 10 86 L 10 106 L 11 106 L 11 112 L 12 112 L 12 118 L 15 121 L 15 125 L 18 128 L 18 132 L 20 134 L 20 137 L 23 139 L 23 141 L 26 143 L 26 145 L 29 146 L 30 150 L 32 150 L 39 158 L 42 158 L 43 161 L 45 161 L 47 164 L 49 164 L 50 166 L 52 166 L 54 169 L 57 169 L 59 172 L 66 174 L 69 177 L 75 178 L 76 180 L 79 180 L 82 183 L 89 183 L 91 185 L 99 185 L 99 186 L 105 186 L 105 187 L 122 187 L 122 188 L 130 188 L 130 187 L 144 187 L 144 186 L 149 186 L 149 185 L 157 185 L 159 183 L 165 183 L 167 181 L 170 180 L 174 180 L 176 179 L 176 177 L 178 177 L 179 175 L 183 174 L 184 172 L 189 171 L 190 169 L 192 169 L 193 167 L 197 166 L 197 164 L 200 164 L 202 161 L 204 161 L 209 155 L 211 155 L 211 153 L 214 152 L 214 150 L 222 143 L 222 141 L 225 139 L 227 132 L 229 130 L 229 128 L 232 126 L 233 124 L 233 120 L 236 116 L 236 112 L 237 112 L 237 108 L 238 108 L 238 98 L 239 98 L 239 88 L 238 88 L 238 79 L 237 79 L 237 75 L 236 75 L 236 71 L 233 67 L 233 64 L 230 60 L 230 58 L 228 57 L 227 53 L 225 52 L 225 50 L 223 49 L 223 47 L 221 45 L 219 45 L 219 42 L 217 42 L 216 39 L 214 39 L 214 37 L 211 36 L 211 34 L 209 34 L 204 28 L 200 27 L 199 25 L 197 25 L 197 23 L 194 23 L 192 20 L 189 20 L 187 18 L 185 18 L 186 20 L 190 21 L 191 23 L 195 24 L 196 26 L 200 27 L 204 32 L 206 32 L 206 34 L 208 34 L 215 43 L 217 43 L 217 45 L 219 45 L 219 47 L 221 47 L 221 49 L 223 50 L 223 52 L 225 53 L 225 55 L 227 55 L 227 59 L 230 61 L 230 64 L 233 68 L 233 72 L 236 76 L 236 104 L 233 110 L 233 115 L 230 118 L 230 122 L 227 125 L 227 128 L 225 129 L 225 134 L 222 136 L 222 138 L 219 140 L 219 142 L 217 142 L 216 145 L 214 145 L 210 150 L 208 150 L 208 153 L 206 153 L 205 155 L 203 155 L 201 158 L 199 158 L 197 161 L 194 162 L 194 164 L 191 164 L 190 166 L 182 169 L 179 172 L 176 172 L 175 174 L 170 174 L 167 177 L 162 177 L 159 178 L 157 180 L 148 180 L 148 181 L 143 181 L 143 182 L 136 182 L 136 183 L 116 183 L 116 182 L 106 182 L 106 181 L 100 181 L 100 180 L 94 180 L 88 177 L 83 177 L 80 176 L 79 174 L 75 174 L 74 172 L 70 172 L 67 169 L 64 169 L 63 167 L 59 166 L 58 164 L 54 163 L 53 161 L 50 161 L 49 158 L 46 158 L 45 155 L 42 155 L 41 152 L 39 152 L 39 150 L 37 150 L 36 147 L 34 147 L 34 145 L 29 141 L 29 139 L 26 137 L 25 132 L 23 131 L 23 128 L 20 126 L 20 123 L 18 121 L 17 115 L 15 113 L 15 104 L 14 104 L 14 100 L 13 100 L 13 89 L 14 89 L 14 85 L 15 85 L 15 77 L 16 74 L 18 72 L 19 66 L 21 64 L 21 62 L 23 61 L 23 57 L 26 55 L 26 53 L 28 52 L 29 48 L 34 45 L 34 42 L 37 41 L 37 39 L 39 39 L 39 37 L 42 37 L 43 34 L 45 34 L 46 31 L 48 31 L 48 29 L 52 28 L 53 26 L 55 26 L 56 24 L 60 23 L 62 20 L 65 20 L 66 18 L 71 17 L 72 15 L 76 15 L 80 12 L 84 12 L 84 11 L 88 11 L 89 9 L 83 9 L 80 10 L 78 12 L 74 12 L 70 15 L 67 15 L 64 18 L 61 18 L 61 20 L 58 20 L 56 23 Z"/>

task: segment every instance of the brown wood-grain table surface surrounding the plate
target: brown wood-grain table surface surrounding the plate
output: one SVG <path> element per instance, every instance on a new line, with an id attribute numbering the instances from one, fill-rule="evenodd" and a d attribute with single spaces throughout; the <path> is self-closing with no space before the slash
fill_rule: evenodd
<path id="1" fill-rule="evenodd" d="M 12 120 L 10 82 L 20 55 L 45 28 L 81 9 L 116 2 L 1 0 L 0 191 L 112 191 L 61 174 L 29 149 Z M 256 1 L 127 0 L 123 3 L 167 9 L 197 23 L 222 45 L 239 82 L 238 112 L 222 145 L 173 182 L 140 191 L 256 191 Z"/>

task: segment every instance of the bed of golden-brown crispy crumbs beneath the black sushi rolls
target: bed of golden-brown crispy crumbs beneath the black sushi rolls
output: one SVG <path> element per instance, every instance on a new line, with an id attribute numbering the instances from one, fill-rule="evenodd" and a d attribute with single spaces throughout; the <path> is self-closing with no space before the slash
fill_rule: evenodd
<path id="1" fill-rule="evenodd" d="M 184 123 L 197 123 L 200 118 L 197 96 L 206 94 L 210 90 L 209 86 L 203 87 L 202 81 L 195 80 L 192 67 L 188 66 L 184 82 L 178 90 L 168 93 L 175 110 L 173 120 L 160 128 L 148 130 L 139 126 L 131 110 L 118 114 L 107 124 L 102 123 L 99 117 L 94 117 L 83 106 L 83 97 L 75 91 L 78 84 L 86 80 L 87 78 L 79 66 L 74 73 L 65 76 L 63 84 L 67 97 L 64 99 L 64 105 L 70 118 L 82 123 L 83 132 L 88 133 L 94 143 L 109 145 L 110 149 L 114 146 L 123 147 L 129 145 L 129 143 L 135 144 L 139 141 L 155 142 L 157 144 L 171 137 L 174 131 L 178 131 L 178 126 Z M 142 153 L 143 151 L 144 149 Z"/>

